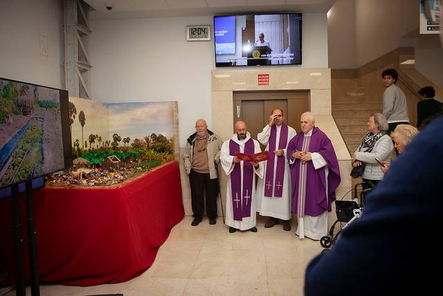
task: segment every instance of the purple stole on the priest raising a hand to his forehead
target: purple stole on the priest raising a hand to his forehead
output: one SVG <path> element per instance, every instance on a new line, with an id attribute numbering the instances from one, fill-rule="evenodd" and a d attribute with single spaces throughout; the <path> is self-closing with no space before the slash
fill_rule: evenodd
<path id="1" fill-rule="evenodd" d="M 284 162 L 286 159 L 284 155 L 277 157 L 277 169 L 275 170 L 275 184 L 274 180 L 274 159 L 275 159 L 275 138 L 277 137 L 277 127 L 272 125 L 271 135 L 269 136 L 269 159 L 266 162 L 266 177 L 264 179 L 264 196 L 272 197 L 273 187 L 275 186 L 274 196 L 275 198 L 281 198 L 283 193 L 283 180 L 284 180 Z M 288 126 L 282 124 L 280 129 L 280 140 L 278 141 L 278 150 L 286 148 L 288 141 Z"/>

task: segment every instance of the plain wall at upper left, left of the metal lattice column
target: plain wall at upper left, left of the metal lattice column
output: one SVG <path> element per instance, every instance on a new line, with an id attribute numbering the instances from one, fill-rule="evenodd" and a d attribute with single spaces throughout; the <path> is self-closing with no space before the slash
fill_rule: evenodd
<path id="1" fill-rule="evenodd" d="M 64 88 L 62 24 L 63 1 L 0 1 L 0 77 Z"/>

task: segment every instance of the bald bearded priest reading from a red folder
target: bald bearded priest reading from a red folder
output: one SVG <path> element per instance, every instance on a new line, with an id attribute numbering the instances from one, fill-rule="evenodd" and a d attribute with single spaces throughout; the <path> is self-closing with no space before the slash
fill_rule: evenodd
<path id="1" fill-rule="evenodd" d="M 235 123 L 235 134 L 221 145 L 221 167 L 228 180 L 226 182 L 226 225 L 229 232 L 250 230 L 255 227 L 255 175 L 263 176 L 262 162 L 244 162 L 237 153 L 260 153 L 260 143 L 246 131 L 246 123 Z"/>

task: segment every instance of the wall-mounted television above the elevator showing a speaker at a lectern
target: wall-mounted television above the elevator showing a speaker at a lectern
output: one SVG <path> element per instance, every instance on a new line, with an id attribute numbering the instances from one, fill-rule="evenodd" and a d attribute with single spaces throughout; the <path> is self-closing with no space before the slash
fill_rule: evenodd
<path id="1" fill-rule="evenodd" d="M 214 17 L 215 66 L 302 63 L 302 14 Z"/>

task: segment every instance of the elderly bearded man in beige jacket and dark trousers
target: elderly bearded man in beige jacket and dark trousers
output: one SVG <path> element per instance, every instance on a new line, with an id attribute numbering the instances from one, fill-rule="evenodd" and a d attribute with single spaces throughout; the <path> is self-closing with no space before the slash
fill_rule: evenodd
<path id="1" fill-rule="evenodd" d="M 220 162 L 221 140 L 208 130 L 204 119 L 195 123 L 194 134 L 186 141 L 183 156 L 186 173 L 189 175 L 192 203 L 192 226 L 201 222 L 206 203 L 209 224 L 217 223 L 217 195 L 219 194 L 218 164 Z M 205 198 L 206 196 L 206 202 Z"/>

